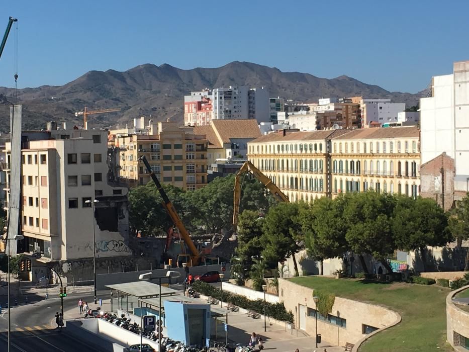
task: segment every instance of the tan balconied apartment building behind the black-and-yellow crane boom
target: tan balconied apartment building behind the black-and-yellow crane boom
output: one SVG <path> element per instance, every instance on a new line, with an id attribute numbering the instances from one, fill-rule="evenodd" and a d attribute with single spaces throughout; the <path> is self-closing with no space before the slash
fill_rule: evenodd
<path id="1" fill-rule="evenodd" d="M 138 132 L 111 130 L 108 143 L 118 148 L 119 178 L 130 187 L 151 181 L 145 165 L 139 161 L 142 155 L 163 184 L 187 191 L 207 185 L 207 137 L 195 134 L 193 127 L 178 127 L 167 121 Z"/>

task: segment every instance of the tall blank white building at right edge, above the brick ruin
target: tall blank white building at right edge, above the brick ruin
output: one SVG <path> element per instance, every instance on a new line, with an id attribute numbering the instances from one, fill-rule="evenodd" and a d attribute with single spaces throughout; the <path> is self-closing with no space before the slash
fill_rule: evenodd
<path id="1" fill-rule="evenodd" d="M 446 152 L 455 161 L 454 189 L 469 191 L 469 61 L 432 77 L 432 94 L 420 99 L 422 164 Z"/>

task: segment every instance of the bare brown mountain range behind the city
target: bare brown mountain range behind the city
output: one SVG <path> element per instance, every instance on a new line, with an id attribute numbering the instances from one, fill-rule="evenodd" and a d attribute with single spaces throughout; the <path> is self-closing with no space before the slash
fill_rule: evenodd
<path id="1" fill-rule="evenodd" d="M 388 92 L 378 85 L 360 82 L 342 75 L 327 79 L 309 73 L 282 72 L 250 62 L 234 61 L 218 68 L 183 70 L 168 64 L 144 64 L 125 72 L 89 71 L 60 86 L 42 85 L 15 92 L 0 87 L 0 131 L 9 131 L 9 102 L 23 104 L 23 129 L 43 129 L 47 121 L 82 124 L 75 112 L 88 109 L 121 108 L 117 113 L 88 116 L 97 127 L 132 123 L 132 119 L 150 115 L 156 121 L 183 121 L 184 95 L 204 88 L 247 85 L 269 90 L 271 97 L 300 102 L 319 98 L 353 97 L 390 98 L 392 102 L 416 105 L 420 95 Z"/>

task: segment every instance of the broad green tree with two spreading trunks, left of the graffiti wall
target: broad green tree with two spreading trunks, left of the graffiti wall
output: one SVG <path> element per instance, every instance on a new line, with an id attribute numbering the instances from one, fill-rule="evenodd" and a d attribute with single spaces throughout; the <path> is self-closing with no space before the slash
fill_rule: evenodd
<path id="1" fill-rule="evenodd" d="M 395 198 L 372 191 L 347 194 L 344 198 L 345 238 L 350 249 L 360 253 L 358 257 L 363 272 L 369 273 L 363 253 L 380 260 L 392 272 L 387 257 L 396 247 L 391 229 Z"/>

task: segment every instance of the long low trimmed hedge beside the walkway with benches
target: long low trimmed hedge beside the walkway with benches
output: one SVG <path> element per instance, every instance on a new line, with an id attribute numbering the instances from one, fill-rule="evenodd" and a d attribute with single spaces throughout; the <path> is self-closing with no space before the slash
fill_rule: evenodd
<path id="1" fill-rule="evenodd" d="M 235 306 L 253 310 L 259 314 L 264 314 L 264 300 L 250 300 L 245 296 L 236 295 L 230 292 L 223 291 L 223 299 L 222 299 L 222 292 L 221 290 L 213 287 L 203 281 L 196 281 L 193 284 L 194 290 L 197 292 L 211 296 L 215 299 L 222 300 L 223 302 L 229 302 L 234 304 Z M 288 321 L 289 323 L 294 322 L 294 315 L 292 311 L 288 311 L 285 309 L 283 303 L 270 303 L 265 302 L 265 312 L 267 316 L 270 316 L 277 320 Z"/>

